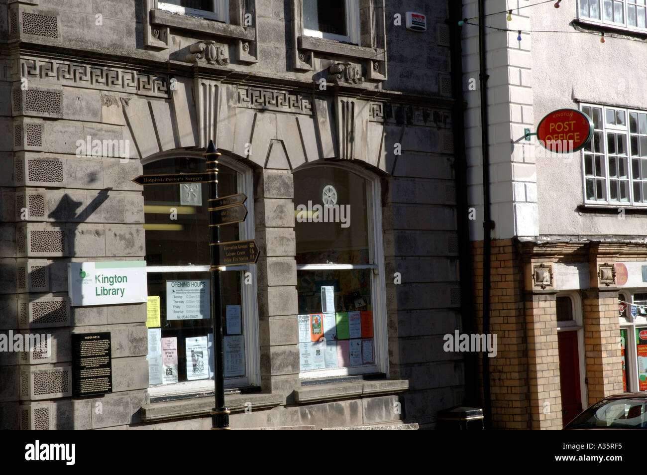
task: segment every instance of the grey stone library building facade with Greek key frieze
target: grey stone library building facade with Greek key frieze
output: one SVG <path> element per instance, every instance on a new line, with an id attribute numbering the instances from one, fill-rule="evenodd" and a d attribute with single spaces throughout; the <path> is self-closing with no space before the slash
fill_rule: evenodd
<path id="1" fill-rule="evenodd" d="M 184 338 L 199 331 L 170 322 L 160 289 L 208 279 L 206 191 L 186 204 L 133 179 L 201 170 L 211 139 L 223 191 L 244 192 L 249 211 L 222 232 L 261 251 L 222 272 L 242 311 L 232 428 L 432 427 L 463 401 L 460 356 L 432 343 L 459 326 L 460 304 L 446 3 L 351 0 L 314 20 L 313 5 L 0 3 L 0 330 L 51 335 L 47 351 L 0 353 L 2 428 L 210 428 L 213 380 L 151 384 L 150 300 L 72 305 L 68 264 L 146 261 L 186 376 Z M 406 29 L 406 11 L 427 30 Z M 337 249 L 331 227 L 298 220 L 309 183 L 353 199 Z M 303 366 L 297 316 L 320 313 L 321 282 L 336 311 L 369 315 L 360 364 Z M 96 332 L 111 336 L 112 392 L 74 397 L 71 335 Z"/>

